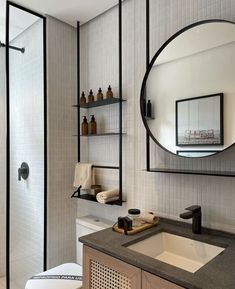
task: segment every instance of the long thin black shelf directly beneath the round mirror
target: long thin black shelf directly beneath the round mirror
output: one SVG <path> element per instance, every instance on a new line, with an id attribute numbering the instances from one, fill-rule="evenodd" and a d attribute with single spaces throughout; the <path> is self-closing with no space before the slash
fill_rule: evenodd
<path id="1" fill-rule="evenodd" d="M 149 170 L 152 173 L 166 173 L 166 174 L 184 174 L 184 175 L 203 175 L 203 176 L 217 176 L 217 177 L 235 177 L 235 172 L 226 171 L 209 171 L 209 170 L 181 170 L 181 169 L 165 169 L 152 168 Z"/>

